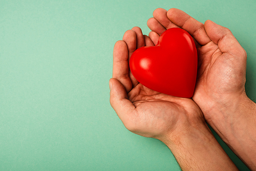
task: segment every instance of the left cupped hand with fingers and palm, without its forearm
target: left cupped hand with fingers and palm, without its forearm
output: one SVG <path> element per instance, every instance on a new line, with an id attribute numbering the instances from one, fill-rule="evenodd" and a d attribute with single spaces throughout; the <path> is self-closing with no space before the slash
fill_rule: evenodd
<path id="1" fill-rule="evenodd" d="M 138 27 L 126 31 L 123 40 L 116 42 L 113 78 L 110 79 L 113 109 L 128 130 L 161 141 L 168 141 L 175 137 L 170 135 L 182 134 L 191 126 L 207 127 L 201 110 L 192 99 L 158 93 L 144 87 L 132 75 L 129 69 L 132 53 L 140 47 L 155 44 Z"/>

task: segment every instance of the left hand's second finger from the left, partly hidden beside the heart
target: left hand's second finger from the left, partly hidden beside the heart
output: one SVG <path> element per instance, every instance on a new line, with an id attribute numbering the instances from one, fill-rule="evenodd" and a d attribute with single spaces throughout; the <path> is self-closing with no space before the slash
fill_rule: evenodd
<path id="1" fill-rule="evenodd" d="M 133 52 L 137 49 L 137 36 L 136 32 L 133 30 L 127 30 L 124 35 L 123 35 L 123 41 L 125 41 L 127 45 L 127 50 L 128 50 L 128 61 L 130 60 Z M 133 76 L 132 72 L 129 71 L 129 77 L 132 81 L 132 88 L 135 87 L 139 82 L 137 79 Z M 130 88 L 130 87 L 129 87 Z M 127 90 L 132 90 L 127 89 Z"/>

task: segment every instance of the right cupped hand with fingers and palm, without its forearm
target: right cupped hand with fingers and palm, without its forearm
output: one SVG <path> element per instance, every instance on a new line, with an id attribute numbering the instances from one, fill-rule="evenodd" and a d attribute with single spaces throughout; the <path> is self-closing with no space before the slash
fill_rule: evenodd
<path id="1" fill-rule="evenodd" d="M 246 97 L 246 52 L 229 29 L 207 20 L 198 22 L 179 9 L 156 9 L 147 25 L 149 37 L 157 42 L 169 28 L 179 27 L 194 37 L 198 50 L 198 78 L 192 99 L 205 119 L 211 122 L 217 113 L 235 110 Z"/>

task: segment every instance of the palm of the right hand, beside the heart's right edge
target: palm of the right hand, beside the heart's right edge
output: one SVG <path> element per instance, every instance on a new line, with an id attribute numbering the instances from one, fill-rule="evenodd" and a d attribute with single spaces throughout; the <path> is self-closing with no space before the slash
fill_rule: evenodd
<path id="1" fill-rule="evenodd" d="M 222 53 L 214 42 L 198 48 L 198 51 L 201 61 L 193 99 L 199 106 L 205 106 L 209 101 L 224 102 L 227 96 L 243 92 L 245 71 L 241 65 L 245 62 L 230 53 Z M 202 110 L 206 109 L 202 107 Z"/>

